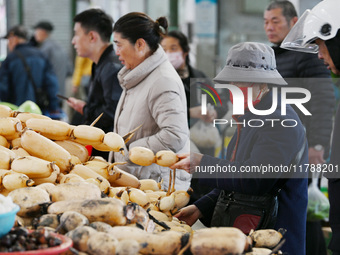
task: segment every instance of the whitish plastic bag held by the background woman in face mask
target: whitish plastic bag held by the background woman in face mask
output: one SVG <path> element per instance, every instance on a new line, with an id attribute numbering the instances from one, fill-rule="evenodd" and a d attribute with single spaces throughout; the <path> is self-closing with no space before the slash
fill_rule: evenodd
<path id="1" fill-rule="evenodd" d="M 218 145 L 221 138 L 217 127 L 199 120 L 190 128 L 190 139 L 197 147 L 211 148 Z"/>

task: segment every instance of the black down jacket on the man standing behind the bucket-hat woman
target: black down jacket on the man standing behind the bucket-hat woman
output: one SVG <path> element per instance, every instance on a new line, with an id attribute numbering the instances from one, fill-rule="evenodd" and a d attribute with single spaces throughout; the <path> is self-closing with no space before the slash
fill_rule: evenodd
<path id="1" fill-rule="evenodd" d="M 335 95 L 330 78 L 330 71 L 317 54 L 308 54 L 273 47 L 277 70 L 291 87 L 302 87 L 310 91 L 311 99 L 304 106 L 312 114 L 305 116 L 295 106 L 306 128 L 309 147 L 321 144 L 328 157 L 332 133 L 332 117 L 335 107 Z M 289 94 L 288 98 L 299 98 L 301 95 Z"/>

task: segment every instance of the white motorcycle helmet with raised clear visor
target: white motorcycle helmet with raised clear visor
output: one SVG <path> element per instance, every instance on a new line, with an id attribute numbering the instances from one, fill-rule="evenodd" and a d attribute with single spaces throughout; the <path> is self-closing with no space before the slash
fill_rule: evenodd
<path id="1" fill-rule="evenodd" d="M 340 29 L 340 0 L 323 0 L 306 10 L 281 43 L 281 48 L 317 53 L 314 40 L 324 41 L 336 36 Z"/>

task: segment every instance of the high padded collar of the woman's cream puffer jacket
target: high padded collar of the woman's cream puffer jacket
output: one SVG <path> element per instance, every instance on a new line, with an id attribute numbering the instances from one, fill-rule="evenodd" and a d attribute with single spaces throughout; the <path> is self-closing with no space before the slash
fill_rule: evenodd
<path id="1" fill-rule="evenodd" d="M 167 59 L 163 48 L 158 45 L 158 49 L 134 69 L 127 69 L 124 66 L 118 73 L 119 83 L 125 89 L 133 88 Z"/>

